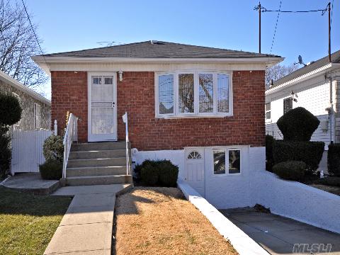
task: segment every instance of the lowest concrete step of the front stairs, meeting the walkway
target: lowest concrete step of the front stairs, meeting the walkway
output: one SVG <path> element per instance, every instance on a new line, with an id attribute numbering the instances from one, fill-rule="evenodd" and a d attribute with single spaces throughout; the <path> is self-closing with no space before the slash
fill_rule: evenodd
<path id="1" fill-rule="evenodd" d="M 132 183 L 132 176 L 130 175 L 107 175 L 107 176 L 78 176 L 67 177 L 66 185 L 81 186 L 81 185 L 108 185 Z"/>

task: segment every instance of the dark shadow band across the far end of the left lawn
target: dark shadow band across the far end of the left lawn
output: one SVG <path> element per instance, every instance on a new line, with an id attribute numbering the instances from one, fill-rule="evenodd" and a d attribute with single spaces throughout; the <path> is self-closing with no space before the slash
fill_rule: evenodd
<path id="1" fill-rule="evenodd" d="M 0 214 L 64 215 L 71 200 L 71 197 L 35 196 L 0 186 Z"/>

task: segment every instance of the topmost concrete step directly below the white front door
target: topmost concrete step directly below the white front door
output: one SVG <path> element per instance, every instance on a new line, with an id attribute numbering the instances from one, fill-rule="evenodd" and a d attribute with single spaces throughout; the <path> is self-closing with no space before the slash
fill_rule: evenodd
<path id="1" fill-rule="evenodd" d="M 100 150 L 111 150 L 111 149 L 125 149 L 125 142 L 87 142 L 80 144 L 72 144 L 71 151 L 100 151 Z"/>

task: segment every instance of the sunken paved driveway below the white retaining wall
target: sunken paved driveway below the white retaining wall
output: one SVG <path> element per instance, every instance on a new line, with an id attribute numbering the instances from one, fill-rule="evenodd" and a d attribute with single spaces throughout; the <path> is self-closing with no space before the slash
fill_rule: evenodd
<path id="1" fill-rule="evenodd" d="M 340 234 L 252 208 L 220 211 L 270 254 L 293 254 L 294 244 L 324 244 L 324 249 L 331 244 L 330 252 L 314 251 L 312 254 L 340 254 Z M 305 250 L 298 254 L 311 252 Z"/>

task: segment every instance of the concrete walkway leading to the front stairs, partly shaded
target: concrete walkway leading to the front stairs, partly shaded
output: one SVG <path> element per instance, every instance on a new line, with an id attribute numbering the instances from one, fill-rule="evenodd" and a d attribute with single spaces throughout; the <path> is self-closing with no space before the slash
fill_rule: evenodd
<path id="1" fill-rule="evenodd" d="M 53 195 L 74 196 L 44 254 L 111 254 L 115 195 L 129 184 L 62 187 Z"/>

